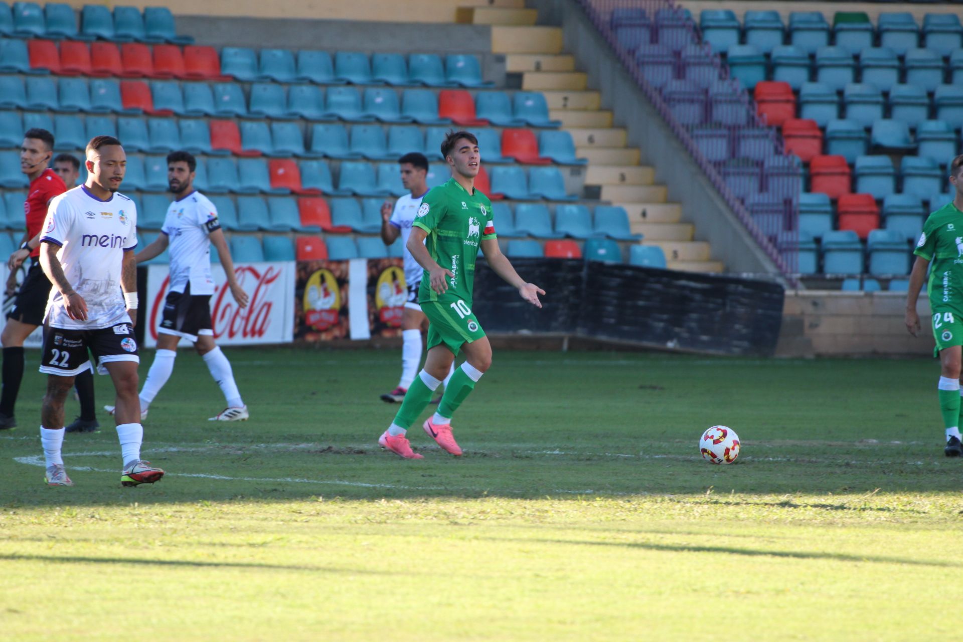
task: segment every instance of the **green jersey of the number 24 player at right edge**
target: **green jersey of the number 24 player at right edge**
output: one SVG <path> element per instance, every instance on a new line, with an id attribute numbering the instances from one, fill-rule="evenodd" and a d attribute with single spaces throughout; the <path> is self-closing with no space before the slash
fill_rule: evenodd
<path id="1" fill-rule="evenodd" d="M 932 261 L 927 293 L 933 312 L 963 316 L 963 212 L 950 202 L 929 215 L 914 254 Z"/>

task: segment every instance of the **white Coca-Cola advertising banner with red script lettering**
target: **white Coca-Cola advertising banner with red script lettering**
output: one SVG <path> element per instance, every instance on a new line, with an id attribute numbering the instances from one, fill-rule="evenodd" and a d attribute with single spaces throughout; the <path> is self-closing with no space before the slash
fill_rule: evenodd
<path id="1" fill-rule="evenodd" d="M 211 296 L 214 339 L 221 346 L 286 344 L 294 340 L 295 263 L 240 263 L 234 266 L 238 283 L 247 292 L 247 308 L 241 308 L 226 287 L 224 270 L 212 265 L 215 293 Z M 168 266 L 147 268 L 147 347 L 157 345 L 157 328 L 168 295 Z"/>

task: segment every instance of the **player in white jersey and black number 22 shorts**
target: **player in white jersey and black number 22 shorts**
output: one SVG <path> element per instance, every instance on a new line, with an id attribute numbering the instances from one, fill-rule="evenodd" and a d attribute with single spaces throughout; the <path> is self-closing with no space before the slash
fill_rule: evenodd
<path id="1" fill-rule="evenodd" d="M 117 390 L 117 438 L 123 456 L 120 483 L 152 484 L 164 471 L 141 459 L 143 426 L 138 412 L 137 209 L 117 190 L 127 157 L 120 141 L 98 136 L 87 143 L 87 182 L 50 202 L 40 236 L 40 266 L 53 288 L 43 324 L 40 372 L 47 377 L 40 443 L 44 480 L 72 486 L 66 475 L 64 400 L 74 377 L 91 368 L 89 351 Z"/>

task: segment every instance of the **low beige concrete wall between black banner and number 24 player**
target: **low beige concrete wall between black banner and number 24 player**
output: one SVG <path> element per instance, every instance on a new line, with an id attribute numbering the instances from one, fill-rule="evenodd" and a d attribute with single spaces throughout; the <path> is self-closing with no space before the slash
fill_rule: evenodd
<path id="1" fill-rule="evenodd" d="M 932 356 L 929 300 L 920 296 L 922 332 L 906 330 L 905 293 L 789 291 L 776 356 Z"/>

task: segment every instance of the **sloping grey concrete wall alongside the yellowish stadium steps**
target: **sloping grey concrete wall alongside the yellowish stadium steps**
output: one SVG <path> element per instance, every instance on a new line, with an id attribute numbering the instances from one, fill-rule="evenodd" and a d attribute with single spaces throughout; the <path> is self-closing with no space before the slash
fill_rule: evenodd
<path id="1" fill-rule="evenodd" d="M 695 224 L 695 239 L 712 243 L 712 258 L 722 261 L 729 272 L 778 272 L 578 3 L 528 0 L 527 5 L 538 10 L 539 24 L 561 25 L 565 50 L 588 74 L 589 87 L 602 92 L 603 109 L 612 110 L 615 124 L 628 130 L 629 144 L 641 149 L 642 163 L 655 167 L 656 180 L 668 187 L 668 199 L 682 203 L 683 220 Z"/>

